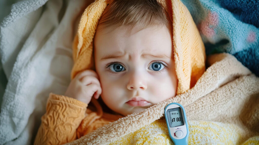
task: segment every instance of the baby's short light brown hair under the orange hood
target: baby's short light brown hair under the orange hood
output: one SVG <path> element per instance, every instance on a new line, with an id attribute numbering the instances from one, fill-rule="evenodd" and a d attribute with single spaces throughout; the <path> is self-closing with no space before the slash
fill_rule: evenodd
<path id="1" fill-rule="evenodd" d="M 114 0 L 100 18 L 101 27 L 136 26 L 140 29 L 152 25 L 165 25 L 171 29 L 168 12 L 157 0 Z"/>

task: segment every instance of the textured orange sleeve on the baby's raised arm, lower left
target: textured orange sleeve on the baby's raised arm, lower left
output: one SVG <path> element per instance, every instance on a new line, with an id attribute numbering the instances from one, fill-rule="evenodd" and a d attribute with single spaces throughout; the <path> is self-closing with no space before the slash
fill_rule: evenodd
<path id="1" fill-rule="evenodd" d="M 34 144 L 64 144 L 76 139 L 87 104 L 67 96 L 50 94 Z"/>

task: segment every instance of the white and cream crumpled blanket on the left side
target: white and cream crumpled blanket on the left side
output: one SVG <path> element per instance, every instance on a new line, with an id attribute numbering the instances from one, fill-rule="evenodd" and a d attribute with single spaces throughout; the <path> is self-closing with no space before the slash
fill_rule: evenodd
<path id="1" fill-rule="evenodd" d="M 48 94 L 63 94 L 73 65 L 75 21 L 92 0 L 24 0 L 1 23 L 0 58 L 8 79 L 0 144 L 32 144 Z"/>

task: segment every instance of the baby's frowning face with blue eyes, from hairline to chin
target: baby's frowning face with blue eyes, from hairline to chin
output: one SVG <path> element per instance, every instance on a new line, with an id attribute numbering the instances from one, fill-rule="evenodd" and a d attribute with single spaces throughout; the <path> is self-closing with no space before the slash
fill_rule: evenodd
<path id="1" fill-rule="evenodd" d="M 94 40 L 101 97 L 125 116 L 174 97 L 177 88 L 167 27 L 130 28 L 97 28 Z"/>

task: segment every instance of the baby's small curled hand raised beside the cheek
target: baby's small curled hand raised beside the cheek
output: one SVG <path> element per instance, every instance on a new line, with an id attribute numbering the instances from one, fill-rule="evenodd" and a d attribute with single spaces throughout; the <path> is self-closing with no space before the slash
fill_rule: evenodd
<path id="1" fill-rule="evenodd" d="M 92 96 L 98 99 L 101 93 L 102 88 L 97 73 L 93 70 L 86 70 L 77 74 L 70 82 L 65 96 L 88 104 Z"/>

